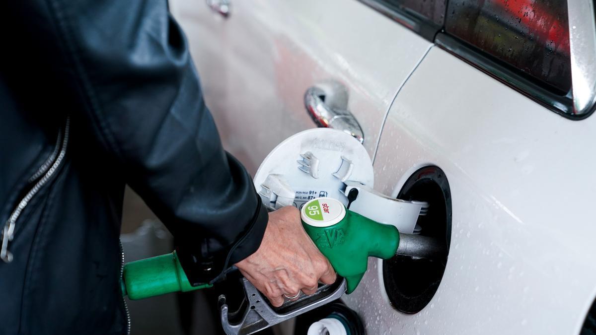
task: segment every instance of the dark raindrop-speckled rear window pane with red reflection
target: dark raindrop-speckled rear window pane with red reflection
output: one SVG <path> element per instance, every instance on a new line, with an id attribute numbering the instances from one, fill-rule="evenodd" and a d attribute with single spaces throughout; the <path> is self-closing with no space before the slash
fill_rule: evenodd
<path id="1" fill-rule="evenodd" d="M 562 95 L 571 87 L 565 0 L 449 0 L 445 30 Z"/>

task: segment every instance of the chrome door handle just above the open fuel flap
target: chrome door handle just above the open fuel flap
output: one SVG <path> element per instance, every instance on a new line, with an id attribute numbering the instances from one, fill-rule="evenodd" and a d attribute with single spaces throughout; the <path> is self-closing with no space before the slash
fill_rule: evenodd
<path id="1" fill-rule="evenodd" d="M 317 126 L 339 129 L 364 143 L 364 133 L 358 120 L 346 110 L 347 92 L 336 82 L 312 86 L 304 95 L 306 112 Z"/>

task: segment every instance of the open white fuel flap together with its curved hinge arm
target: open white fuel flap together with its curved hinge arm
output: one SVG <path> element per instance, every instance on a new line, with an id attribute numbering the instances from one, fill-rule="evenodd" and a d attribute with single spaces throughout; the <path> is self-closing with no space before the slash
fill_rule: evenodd
<path id="1" fill-rule="evenodd" d="M 254 187 L 272 209 L 331 197 L 352 212 L 411 234 L 426 203 L 386 197 L 373 190 L 374 172 L 364 146 L 330 128 L 299 132 L 281 142 L 261 163 Z"/>

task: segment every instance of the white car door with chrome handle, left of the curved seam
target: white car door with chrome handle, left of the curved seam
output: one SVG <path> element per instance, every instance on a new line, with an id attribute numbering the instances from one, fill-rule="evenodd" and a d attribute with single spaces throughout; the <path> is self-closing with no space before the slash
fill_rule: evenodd
<path id="1" fill-rule="evenodd" d="M 358 1 L 210 4 L 170 1 L 224 145 L 251 173 L 283 139 L 316 126 L 309 88 L 320 89 L 310 91 L 319 107 L 355 121 L 336 124 L 359 126 L 372 157 L 396 92 L 431 45 Z"/>

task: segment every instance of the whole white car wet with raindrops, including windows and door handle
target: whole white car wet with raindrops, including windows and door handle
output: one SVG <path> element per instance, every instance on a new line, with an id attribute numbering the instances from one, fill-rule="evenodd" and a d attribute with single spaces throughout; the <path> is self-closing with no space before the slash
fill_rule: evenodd
<path id="1" fill-rule="evenodd" d="M 594 334 L 591 0 L 170 8 L 249 172 L 331 126 L 363 141 L 375 190 L 431 203 L 421 234 L 445 238 L 446 262 L 371 259 L 343 297 L 368 334 Z"/>

